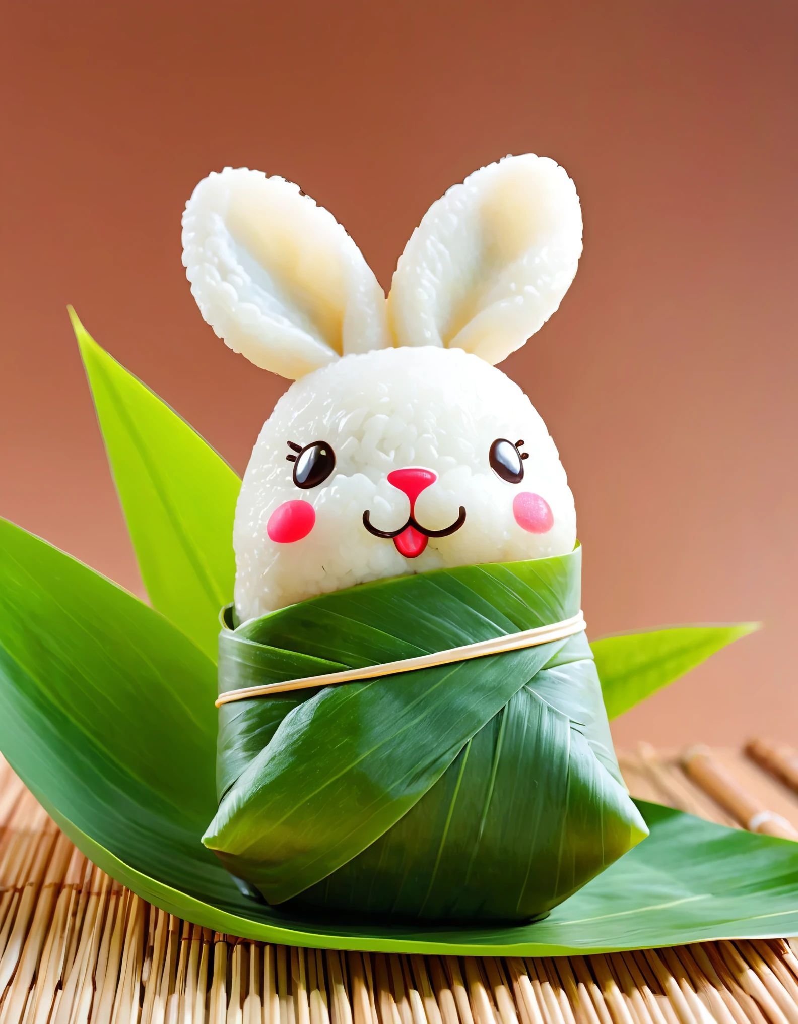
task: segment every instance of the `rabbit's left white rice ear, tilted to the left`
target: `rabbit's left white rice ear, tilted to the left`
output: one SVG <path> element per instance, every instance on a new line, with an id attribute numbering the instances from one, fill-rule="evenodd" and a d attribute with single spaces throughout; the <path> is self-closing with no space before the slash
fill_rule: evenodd
<path id="1" fill-rule="evenodd" d="M 225 344 L 282 377 L 391 344 L 362 253 L 283 178 L 226 167 L 201 181 L 183 214 L 183 265 Z"/>

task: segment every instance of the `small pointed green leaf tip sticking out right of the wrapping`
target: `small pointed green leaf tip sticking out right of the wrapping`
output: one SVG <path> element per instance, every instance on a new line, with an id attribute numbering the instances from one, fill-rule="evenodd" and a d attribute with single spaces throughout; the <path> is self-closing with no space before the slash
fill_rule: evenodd
<path id="1" fill-rule="evenodd" d="M 679 626 L 593 640 L 590 647 L 610 719 L 623 715 L 714 654 L 759 629 L 734 626 Z"/>

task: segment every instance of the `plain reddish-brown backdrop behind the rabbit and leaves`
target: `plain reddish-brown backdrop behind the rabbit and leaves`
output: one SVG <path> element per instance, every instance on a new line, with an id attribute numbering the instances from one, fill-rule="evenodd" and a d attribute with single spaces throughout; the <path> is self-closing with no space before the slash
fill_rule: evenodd
<path id="1" fill-rule="evenodd" d="M 568 470 L 590 633 L 765 624 L 616 735 L 798 742 L 792 0 L 102 0 L 3 20 L 2 514 L 141 592 L 66 302 L 243 470 L 286 383 L 189 294 L 180 214 L 209 171 L 299 182 L 388 286 L 448 185 L 545 154 L 577 183 L 585 254 L 502 369 Z"/>

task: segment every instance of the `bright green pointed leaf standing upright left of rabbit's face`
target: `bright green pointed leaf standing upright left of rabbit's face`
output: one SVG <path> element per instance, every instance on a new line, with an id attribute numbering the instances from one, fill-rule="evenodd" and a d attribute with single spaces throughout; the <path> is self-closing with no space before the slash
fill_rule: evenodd
<path id="1" fill-rule="evenodd" d="M 70 307 L 120 502 L 153 607 L 214 662 L 232 599 L 240 480 L 227 463 L 89 336 Z"/>

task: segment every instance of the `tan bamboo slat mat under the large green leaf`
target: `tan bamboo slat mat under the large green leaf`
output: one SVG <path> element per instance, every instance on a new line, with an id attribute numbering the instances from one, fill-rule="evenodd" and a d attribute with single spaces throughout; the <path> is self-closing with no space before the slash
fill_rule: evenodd
<path id="1" fill-rule="evenodd" d="M 795 753 L 754 753 L 767 770 L 706 749 L 619 760 L 635 796 L 798 837 Z M 0 759 L 0 1024 L 798 1024 L 796 952 L 782 939 L 506 958 L 249 942 L 114 882 Z"/>

